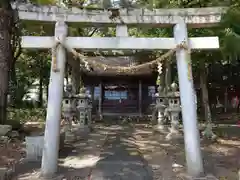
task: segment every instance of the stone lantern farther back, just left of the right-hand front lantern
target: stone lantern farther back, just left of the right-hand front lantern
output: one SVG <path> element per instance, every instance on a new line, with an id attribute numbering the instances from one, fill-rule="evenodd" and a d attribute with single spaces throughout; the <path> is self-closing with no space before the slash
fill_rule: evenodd
<path id="1" fill-rule="evenodd" d="M 158 93 L 155 94 L 156 97 L 156 108 L 157 108 L 157 130 L 164 130 L 165 126 L 164 126 L 164 112 L 166 109 L 166 104 L 165 104 L 165 99 L 166 99 L 166 95 L 163 91 L 163 88 L 161 85 L 159 85 L 158 87 Z"/>

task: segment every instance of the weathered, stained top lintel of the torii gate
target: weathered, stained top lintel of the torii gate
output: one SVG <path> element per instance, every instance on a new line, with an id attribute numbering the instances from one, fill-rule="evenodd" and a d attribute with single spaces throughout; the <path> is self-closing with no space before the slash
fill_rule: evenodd
<path id="1" fill-rule="evenodd" d="M 111 19 L 111 11 L 95 9 L 64 9 L 57 6 L 35 6 L 32 4 L 12 4 L 22 20 L 48 21 L 58 20 L 81 23 L 90 26 L 172 26 L 183 18 L 190 27 L 206 27 L 218 24 L 226 12 L 225 7 L 185 8 L 185 9 L 120 9 L 120 18 Z"/>

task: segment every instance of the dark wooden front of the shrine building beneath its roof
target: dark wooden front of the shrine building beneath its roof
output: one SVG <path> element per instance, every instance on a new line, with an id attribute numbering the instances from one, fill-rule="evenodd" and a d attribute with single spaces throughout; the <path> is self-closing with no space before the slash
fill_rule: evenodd
<path id="1" fill-rule="evenodd" d="M 95 115 L 141 116 L 150 114 L 156 93 L 156 73 L 138 76 L 82 76 L 93 100 Z"/>

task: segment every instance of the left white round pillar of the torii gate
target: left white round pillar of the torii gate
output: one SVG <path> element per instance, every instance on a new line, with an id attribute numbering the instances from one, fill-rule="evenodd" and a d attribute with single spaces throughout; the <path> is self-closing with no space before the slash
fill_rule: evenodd
<path id="1" fill-rule="evenodd" d="M 64 40 L 66 36 L 67 25 L 64 22 L 57 22 L 55 25 L 55 38 Z M 48 89 L 49 95 L 41 167 L 41 175 L 44 178 L 53 177 L 57 173 L 58 167 L 60 119 L 63 98 L 66 52 L 61 45 L 58 46 L 56 51 L 57 71 L 55 72 L 52 70 L 54 66 L 54 62 L 52 61 Z"/>

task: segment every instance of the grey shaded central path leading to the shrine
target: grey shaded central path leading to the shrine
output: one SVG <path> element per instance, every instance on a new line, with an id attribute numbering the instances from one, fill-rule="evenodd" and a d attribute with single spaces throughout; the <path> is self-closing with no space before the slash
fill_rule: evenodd
<path id="1" fill-rule="evenodd" d="M 106 131 L 108 138 L 91 179 L 152 180 L 151 167 L 136 146 L 135 129 L 129 125 L 110 125 Z"/>

